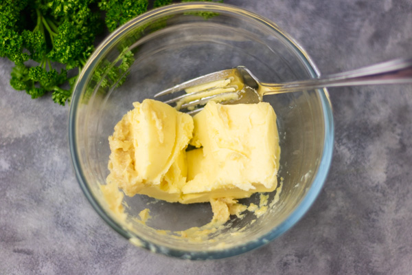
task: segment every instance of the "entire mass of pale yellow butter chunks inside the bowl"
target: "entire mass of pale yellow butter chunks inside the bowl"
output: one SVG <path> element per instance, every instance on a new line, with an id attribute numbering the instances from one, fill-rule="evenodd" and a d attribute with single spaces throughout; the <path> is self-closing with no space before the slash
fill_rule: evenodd
<path id="1" fill-rule="evenodd" d="M 192 118 L 156 100 L 133 103 L 108 138 L 108 185 L 124 194 L 210 202 L 214 220 L 239 215 L 237 199 L 277 187 L 279 137 L 271 104 L 206 104 Z M 188 145 L 195 148 L 186 151 Z"/>

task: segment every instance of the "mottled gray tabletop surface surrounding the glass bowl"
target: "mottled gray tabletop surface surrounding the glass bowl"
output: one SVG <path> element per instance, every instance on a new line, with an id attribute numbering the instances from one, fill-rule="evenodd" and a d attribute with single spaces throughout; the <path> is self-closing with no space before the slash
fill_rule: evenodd
<path id="1" fill-rule="evenodd" d="M 325 73 L 412 56 L 411 0 L 225 0 L 275 21 Z M 258 250 L 190 262 L 135 248 L 71 168 L 69 107 L 8 85 L 0 59 L 0 274 L 411 274 L 412 85 L 330 89 L 328 180 L 295 227 Z"/>

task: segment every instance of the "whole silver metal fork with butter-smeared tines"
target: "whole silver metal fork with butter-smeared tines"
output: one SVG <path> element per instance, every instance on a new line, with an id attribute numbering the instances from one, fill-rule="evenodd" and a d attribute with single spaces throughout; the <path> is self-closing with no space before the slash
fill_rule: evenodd
<path id="1" fill-rule="evenodd" d="M 269 94 L 324 87 L 395 83 L 412 83 L 412 58 L 400 58 L 339 74 L 288 83 L 262 83 L 249 69 L 239 66 L 186 81 L 159 92 L 155 98 L 184 90 L 186 93 L 182 96 L 164 102 L 175 104 L 176 109 L 187 109 L 187 113 L 194 114 L 203 109 L 196 107 L 210 100 L 222 104 L 258 103 L 263 100 L 264 95 Z"/>

